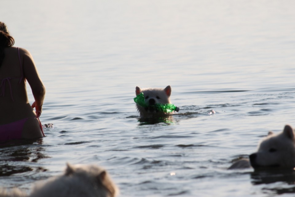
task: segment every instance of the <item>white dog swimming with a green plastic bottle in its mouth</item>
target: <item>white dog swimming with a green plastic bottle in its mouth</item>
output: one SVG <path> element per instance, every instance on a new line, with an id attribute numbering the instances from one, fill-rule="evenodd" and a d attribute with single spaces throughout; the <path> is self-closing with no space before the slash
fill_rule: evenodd
<path id="1" fill-rule="evenodd" d="M 136 86 L 135 94 L 136 96 L 140 93 L 144 93 L 145 103 L 149 105 L 149 107 L 142 107 L 136 103 L 137 111 L 140 113 L 140 118 L 148 119 L 148 118 L 158 118 L 166 115 L 171 115 L 171 113 L 165 113 L 162 111 L 158 111 L 153 105 L 157 103 L 171 103 L 170 95 L 171 95 L 171 86 L 167 86 L 165 89 L 159 88 L 147 88 L 141 90 Z"/>

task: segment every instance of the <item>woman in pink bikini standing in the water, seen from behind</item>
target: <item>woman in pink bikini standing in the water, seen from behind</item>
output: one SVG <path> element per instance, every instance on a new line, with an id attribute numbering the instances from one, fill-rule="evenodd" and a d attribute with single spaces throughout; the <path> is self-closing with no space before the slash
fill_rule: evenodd
<path id="1" fill-rule="evenodd" d="M 29 51 L 13 45 L 14 38 L 0 22 L 0 140 L 40 138 L 44 133 L 38 117 L 42 112 L 45 87 Z M 32 106 L 26 80 L 35 99 Z"/>

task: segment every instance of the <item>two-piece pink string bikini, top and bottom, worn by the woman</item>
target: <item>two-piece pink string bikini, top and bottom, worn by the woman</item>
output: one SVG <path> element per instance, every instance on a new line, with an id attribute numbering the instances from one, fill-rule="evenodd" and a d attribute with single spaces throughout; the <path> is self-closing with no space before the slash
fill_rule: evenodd
<path id="1" fill-rule="evenodd" d="M 23 68 L 22 68 L 21 58 L 20 58 L 20 54 L 19 54 L 19 49 L 18 49 L 18 59 L 19 59 L 19 65 L 21 67 L 22 76 L 21 77 L 8 77 L 8 78 L 0 79 L 0 81 L 1 81 L 1 83 L 0 83 L 0 96 L 4 96 L 5 84 L 7 82 L 10 87 L 10 96 L 13 101 L 14 101 L 14 99 L 12 96 L 12 88 L 11 88 L 11 84 L 10 84 L 10 79 L 19 78 L 18 83 L 21 83 L 22 79 L 23 79 Z M 45 136 L 44 132 L 43 132 L 42 124 L 39 120 L 39 117 L 29 117 L 29 118 L 15 121 L 13 123 L 0 125 L 0 140 L 2 141 L 2 140 L 8 140 L 8 139 L 21 139 L 23 126 L 26 123 L 26 121 L 30 118 L 37 118 L 38 119 L 42 134 L 43 134 L 43 136 Z"/>

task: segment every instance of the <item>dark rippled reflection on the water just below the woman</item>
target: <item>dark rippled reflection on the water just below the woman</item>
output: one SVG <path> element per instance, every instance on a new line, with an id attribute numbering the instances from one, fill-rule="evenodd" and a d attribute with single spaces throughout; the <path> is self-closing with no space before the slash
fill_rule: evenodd
<path id="1" fill-rule="evenodd" d="M 43 139 L 11 140 L 0 144 L 0 177 L 29 171 L 47 171 L 44 167 L 34 167 L 40 159 L 48 158 L 42 147 Z"/>

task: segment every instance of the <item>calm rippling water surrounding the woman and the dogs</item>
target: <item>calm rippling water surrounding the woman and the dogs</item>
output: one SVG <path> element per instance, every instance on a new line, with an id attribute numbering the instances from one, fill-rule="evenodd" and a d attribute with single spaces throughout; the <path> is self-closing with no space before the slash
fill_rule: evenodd
<path id="1" fill-rule="evenodd" d="M 29 191 L 69 162 L 105 167 L 120 196 L 293 196 L 293 174 L 226 168 L 269 130 L 295 127 L 294 4 L 3 0 L 53 127 L 2 144 L 1 187 Z M 140 122 L 135 87 L 167 85 L 179 113 Z"/>

